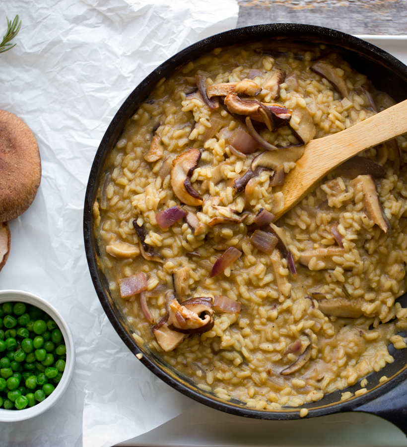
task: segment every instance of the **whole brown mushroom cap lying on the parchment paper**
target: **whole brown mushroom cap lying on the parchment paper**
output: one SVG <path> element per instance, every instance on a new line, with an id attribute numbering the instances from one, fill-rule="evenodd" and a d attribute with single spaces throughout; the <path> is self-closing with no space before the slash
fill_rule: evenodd
<path id="1" fill-rule="evenodd" d="M 31 129 L 0 110 L 0 222 L 15 219 L 33 202 L 41 181 L 41 159 Z"/>

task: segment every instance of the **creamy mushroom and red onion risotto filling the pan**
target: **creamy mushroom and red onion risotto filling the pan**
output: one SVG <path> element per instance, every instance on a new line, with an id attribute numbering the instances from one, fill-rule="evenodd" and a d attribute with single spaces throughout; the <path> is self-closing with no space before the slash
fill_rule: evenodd
<path id="1" fill-rule="evenodd" d="M 218 48 L 161 79 L 93 207 L 100 266 L 137 342 L 256 409 L 359 381 L 366 392 L 393 362 L 388 345 L 407 346 L 407 139 L 275 214 L 308 141 L 392 104 L 325 45 Z"/>

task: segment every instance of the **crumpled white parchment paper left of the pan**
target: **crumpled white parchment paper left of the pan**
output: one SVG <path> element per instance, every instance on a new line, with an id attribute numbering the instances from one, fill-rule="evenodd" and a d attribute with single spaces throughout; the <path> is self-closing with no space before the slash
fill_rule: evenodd
<path id="1" fill-rule="evenodd" d="M 0 54 L 0 109 L 33 130 L 42 181 L 31 207 L 10 222 L 0 289 L 51 302 L 76 345 L 68 390 L 32 420 L 1 423 L 0 446 L 101 447 L 133 438 L 195 404 L 130 353 L 106 318 L 88 272 L 82 233 L 96 149 L 120 105 L 157 65 L 236 26 L 236 0 L 13 0 L 16 47 Z M 4 31 L 3 31 L 4 30 Z"/>

